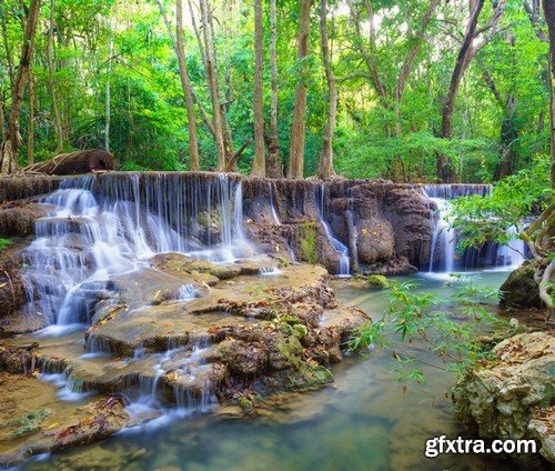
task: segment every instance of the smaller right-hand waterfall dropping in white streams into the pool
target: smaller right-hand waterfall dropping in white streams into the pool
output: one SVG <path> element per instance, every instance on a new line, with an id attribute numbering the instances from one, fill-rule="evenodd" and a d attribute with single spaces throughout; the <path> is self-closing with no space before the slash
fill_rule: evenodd
<path id="1" fill-rule="evenodd" d="M 457 258 L 457 233 L 451 227 L 451 200 L 478 194 L 485 197 L 492 191 L 490 184 L 426 184 L 423 187 L 426 196 L 435 202 L 437 213 L 430 249 L 428 272 L 452 273 L 455 270 L 483 268 L 516 268 L 525 259 L 526 247 L 518 239 L 515 227 L 507 228 L 506 245 L 487 242 L 481 250 L 467 249 Z"/>

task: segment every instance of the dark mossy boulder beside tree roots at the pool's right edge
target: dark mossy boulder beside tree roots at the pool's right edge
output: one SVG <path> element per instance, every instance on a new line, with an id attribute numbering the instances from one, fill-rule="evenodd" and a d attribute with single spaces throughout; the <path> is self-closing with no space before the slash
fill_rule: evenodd
<path id="1" fill-rule="evenodd" d="M 502 308 L 542 308 L 535 270 L 535 262 L 524 262 L 508 275 L 500 288 Z"/>

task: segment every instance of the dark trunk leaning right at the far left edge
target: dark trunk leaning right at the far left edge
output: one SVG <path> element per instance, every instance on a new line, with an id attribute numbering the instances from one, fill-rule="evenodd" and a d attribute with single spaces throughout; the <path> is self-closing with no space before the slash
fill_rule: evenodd
<path id="1" fill-rule="evenodd" d="M 16 79 L 13 88 L 8 130 L 4 133 L 2 148 L 0 151 L 0 173 L 12 173 L 18 169 L 17 158 L 19 148 L 21 147 L 21 136 L 19 133 L 19 116 L 21 113 L 23 92 L 29 76 L 29 64 L 34 46 L 34 34 L 37 32 L 39 11 L 40 0 L 31 0 L 23 34 L 23 46 L 21 49 L 18 77 Z"/>

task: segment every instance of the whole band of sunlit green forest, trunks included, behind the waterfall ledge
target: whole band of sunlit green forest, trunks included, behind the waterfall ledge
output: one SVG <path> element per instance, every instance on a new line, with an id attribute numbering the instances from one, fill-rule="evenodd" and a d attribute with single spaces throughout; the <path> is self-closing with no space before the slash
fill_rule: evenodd
<path id="1" fill-rule="evenodd" d="M 548 160 L 538 0 L 0 8 L 20 167 L 105 148 L 123 170 L 490 182 Z"/>

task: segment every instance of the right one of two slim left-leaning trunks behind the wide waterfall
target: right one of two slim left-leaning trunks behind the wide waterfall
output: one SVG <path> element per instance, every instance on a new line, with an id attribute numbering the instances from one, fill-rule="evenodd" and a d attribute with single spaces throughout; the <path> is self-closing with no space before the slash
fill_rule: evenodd
<path id="1" fill-rule="evenodd" d="M 204 38 L 204 67 L 210 89 L 210 100 L 212 102 L 212 121 L 214 128 L 214 139 L 218 154 L 218 170 L 224 171 L 226 167 L 226 152 L 223 137 L 223 121 L 220 104 L 220 88 L 218 86 L 218 76 L 214 68 L 213 43 L 211 41 L 209 14 L 209 0 L 200 0 L 202 33 Z"/>

